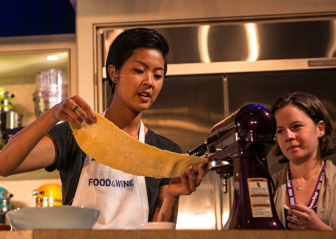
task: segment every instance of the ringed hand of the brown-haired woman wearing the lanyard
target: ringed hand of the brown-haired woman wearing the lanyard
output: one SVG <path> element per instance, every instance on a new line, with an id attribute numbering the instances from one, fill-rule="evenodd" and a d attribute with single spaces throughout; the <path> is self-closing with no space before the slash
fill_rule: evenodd
<path id="1" fill-rule="evenodd" d="M 296 217 L 296 225 L 292 223 L 293 216 L 287 216 L 288 227 L 293 230 L 329 230 L 333 231 L 328 225 L 324 224 L 316 215 L 314 210 L 309 207 L 296 203 L 291 205 L 288 215 Z"/>

